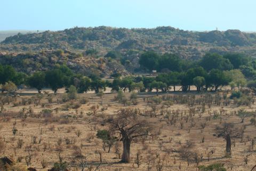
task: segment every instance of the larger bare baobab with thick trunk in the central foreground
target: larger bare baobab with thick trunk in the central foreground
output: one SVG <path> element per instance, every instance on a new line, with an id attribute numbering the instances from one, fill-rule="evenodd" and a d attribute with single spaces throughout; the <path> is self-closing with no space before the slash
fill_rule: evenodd
<path id="1" fill-rule="evenodd" d="M 122 108 L 116 117 L 107 119 L 109 130 L 113 135 L 119 135 L 123 142 L 122 162 L 130 163 L 130 147 L 134 139 L 153 135 L 153 127 L 139 115 L 138 109 Z"/>

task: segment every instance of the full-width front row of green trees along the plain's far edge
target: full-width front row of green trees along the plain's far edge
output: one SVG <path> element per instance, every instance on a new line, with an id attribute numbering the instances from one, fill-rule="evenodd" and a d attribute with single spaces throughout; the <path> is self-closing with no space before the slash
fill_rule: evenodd
<path id="1" fill-rule="evenodd" d="M 118 77 L 114 79 L 113 82 L 102 80 L 97 76 L 86 77 L 81 74 L 75 74 L 64 65 L 45 72 L 35 72 L 30 76 L 15 72 L 11 66 L 3 66 L 3 68 L 8 71 L 13 71 L 14 73 L 9 74 L 10 78 L 1 80 L 3 85 L 5 85 L 6 82 L 14 82 L 17 85 L 25 83 L 30 87 L 36 88 L 39 93 L 45 87 L 50 87 L 54 93 L 57 93 L 58 89 L 63 87 L 68 88 L 71 85 L 76 87 L 78 93 L 87 92 L 89 90 L 94 90 L 95 93 L 98 93 L 105 91 L 106 87 L 110 87 L 112 92 L 119 90 L 123 90 L 124 92 L 133 90 L 152 91 L 155 89 L 158 93 L 160 90 L 162 92 L 168 92 L 172 88 L 173 91 L 176 91 L 177 86 L 181 86 L 180 89 L 182 91 L 189 91 L 190 86 L 196 86 L 197 91 L 201 91 L 202 89 L 215 91 L 219 87 L 227 86 L 228 84 L 231 88 L 243 87 L 246 84 L 246 79 L 240 70 L 221 71 L 212 69 L 210 72 L 207 72 L 201 66 L 191 68 L 187 70 L 187 72 L 158 74 L 156 78 L 146 76 Z M 19 78 L 19 75 L 22 77 Z M 5 89 L 3 88 L 2 90 Z"/>

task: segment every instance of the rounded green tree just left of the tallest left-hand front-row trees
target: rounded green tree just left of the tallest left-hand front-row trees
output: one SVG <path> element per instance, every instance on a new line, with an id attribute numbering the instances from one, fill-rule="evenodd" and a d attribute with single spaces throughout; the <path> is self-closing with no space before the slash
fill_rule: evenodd
<path id="1" fill-rule="evenodd" d="M 30 87 L 36 88 L 38 93 L 41 93 L 41 90 L 45 86 L 45 73 L 35 72 L 33 75 L 29 76 L 27 83 Z"/>

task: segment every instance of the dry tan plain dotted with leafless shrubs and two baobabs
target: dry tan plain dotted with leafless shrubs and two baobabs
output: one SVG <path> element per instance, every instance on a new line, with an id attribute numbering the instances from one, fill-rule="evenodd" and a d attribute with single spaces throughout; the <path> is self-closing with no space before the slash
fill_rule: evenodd
<path id="1" fill-rule="evenodd" d="M 239 105 L 230 92 L 1 96 L 1 156 L 12 164 L 0 167 L 250 170 L 254 93 L 246 91 L 251 101 Z"/>

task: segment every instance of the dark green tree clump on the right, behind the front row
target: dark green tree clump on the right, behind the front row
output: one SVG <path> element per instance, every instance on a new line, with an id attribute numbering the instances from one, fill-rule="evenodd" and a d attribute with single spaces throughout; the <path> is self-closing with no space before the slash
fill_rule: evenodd
<path id="1" fill-rule="evenodd" d="M 158 55 L 155 52 L 143 53 L 139 61 L 140 65 L 149 71 L 187 71 L 191 66 L 202 66 L 207 72 L 212 69 L 221 71 L 239 69 L 241 66 L 254 66 L 250 57 L 244 54 L 226 54 L 207 53 L 201 60 L 191 62 L 183 60 L 174 54 Z"/>

